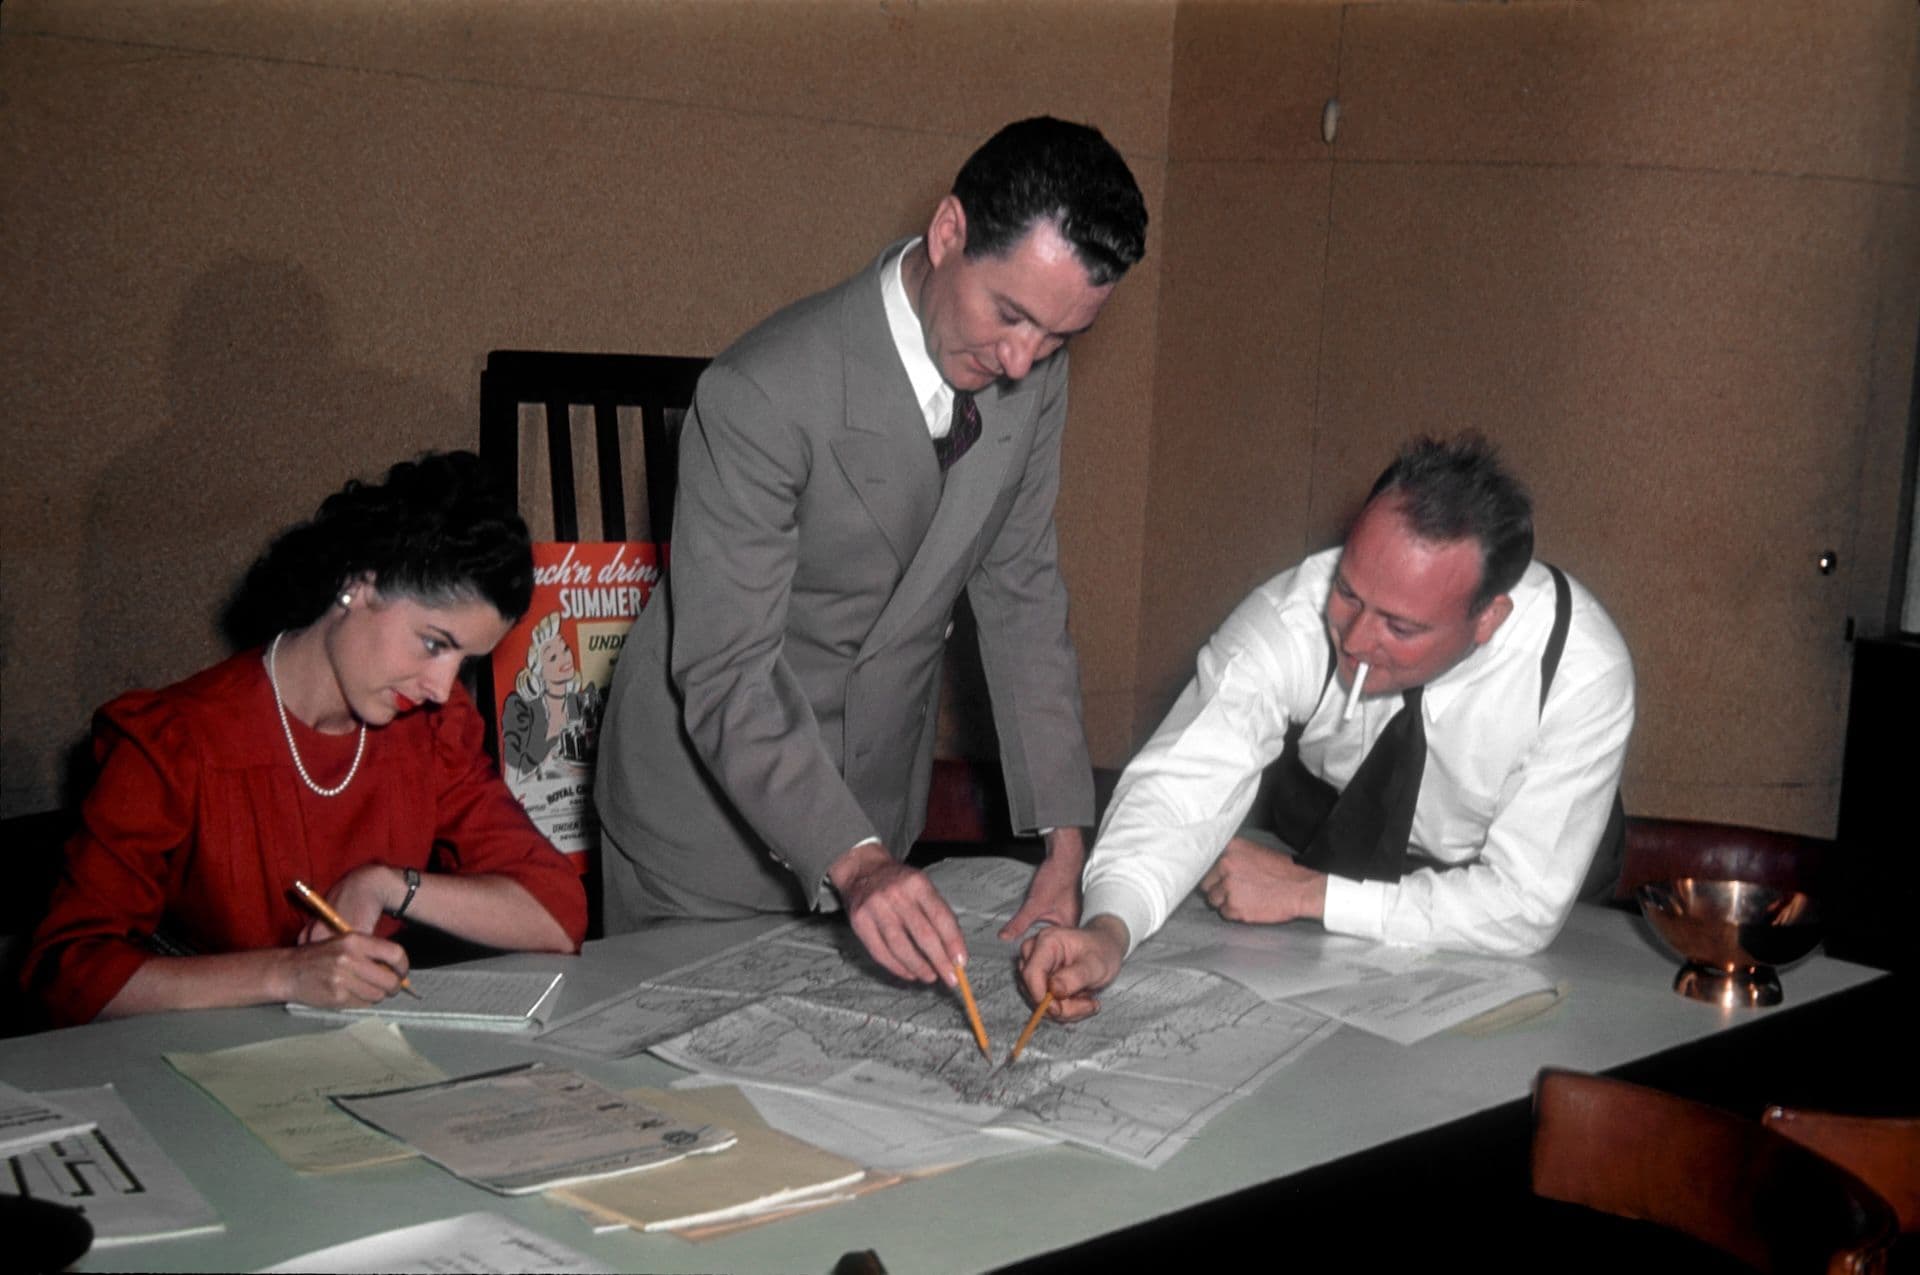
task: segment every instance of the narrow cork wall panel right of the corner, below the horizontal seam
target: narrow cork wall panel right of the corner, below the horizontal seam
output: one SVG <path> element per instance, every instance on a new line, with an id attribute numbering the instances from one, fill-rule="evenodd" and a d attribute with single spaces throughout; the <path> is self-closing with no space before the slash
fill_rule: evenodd
<path id="1" fill-rule="evenodd" d="M 1327 182 L 1325 163 L 1169 169 L 1140 737 L 1208 634 L 1306 549 Z"/>

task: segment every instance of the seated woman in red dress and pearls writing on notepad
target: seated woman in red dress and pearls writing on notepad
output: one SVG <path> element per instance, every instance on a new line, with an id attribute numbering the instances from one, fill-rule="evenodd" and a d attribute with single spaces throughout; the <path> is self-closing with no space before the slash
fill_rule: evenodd
<path id="1" fill-rule="evenodd" d="M 482 753 L 457 684 L 526 611 L 518 515 L 470 453 L 349 482 L 253 565 L 280 632 L 100 710 L 100 780 L 25 981 L 60 1023 L 232 1004 L 372 1004 L 399 920 L 570 952 L 580 878 Z M 315 922 L 294 881 L 353 927 Z"/>

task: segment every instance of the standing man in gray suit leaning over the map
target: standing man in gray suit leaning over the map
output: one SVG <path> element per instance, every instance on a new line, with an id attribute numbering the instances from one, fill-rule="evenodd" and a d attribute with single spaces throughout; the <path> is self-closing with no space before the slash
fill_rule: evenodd
<path id="1" fill-rule="evenodd" d="M 966 943 L 899 856 L 925 822 L 966 589 L 1014 828 L 1046 860 L 1002 931 L 1079 920 L 1092 776 L 1054 541 L 1069 338 L 1146 246 L 1098 131 L 1008 125 L 924 238 L 780 311 L 701 376 L 668 605 L 601 728 L 605 927 L 845 910 L 899 977 Z"/>

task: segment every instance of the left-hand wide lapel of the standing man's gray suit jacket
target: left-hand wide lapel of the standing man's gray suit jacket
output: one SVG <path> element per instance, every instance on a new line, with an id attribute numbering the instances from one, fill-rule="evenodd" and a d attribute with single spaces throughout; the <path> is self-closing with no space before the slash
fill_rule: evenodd
<path id="1" fill-rule="evenodd" d="M 893 351 L 877 269 L 845 290 L 841 321 L 847 325 L 847 419 L 833 438 L 833 459 L 906 568 L 939 507 L 941 467 L 912 384 Z"/>

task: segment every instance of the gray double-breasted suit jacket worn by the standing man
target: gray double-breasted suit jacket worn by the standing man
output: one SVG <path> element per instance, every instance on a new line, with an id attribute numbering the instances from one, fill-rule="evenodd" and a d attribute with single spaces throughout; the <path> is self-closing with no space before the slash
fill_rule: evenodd
<path id="1" fill-rule="evenodd" d="M 636 622 L 601 726 L 609 933 L 833 906 L 852 845 L 904 854 L 962 588 L 1014 828 L 1092 822 L 1052 518 L 1066 351 L 977 396 L 981 438 L 943 482 L 887 330 L 891 252 L 701 376 L 666 605 Z"/>

